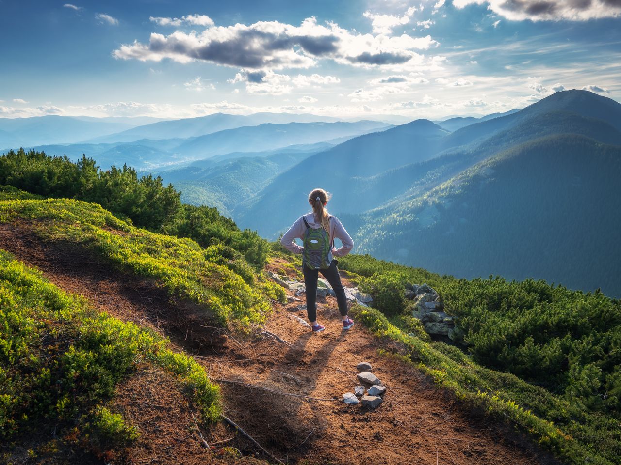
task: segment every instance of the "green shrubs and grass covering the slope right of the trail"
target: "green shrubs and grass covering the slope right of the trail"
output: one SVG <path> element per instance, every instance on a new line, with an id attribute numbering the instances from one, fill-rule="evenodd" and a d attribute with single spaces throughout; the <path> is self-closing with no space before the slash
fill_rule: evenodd
<path id="1" fill-rule="evenodd" d="M 389 306 L 384 299 L 378 309 L 356 308 L 356 316 L 377 335 L 404 344 L 405 360 L 440 386 L 510 418 L 568 463 L 619 461 L 619 301 L 545 281 L 456 280 L 369 255 L 339 261 L 376 295 L 392 292 Z M 416 335 L 401 293 L 407 283 L 422 282 L 455 316 L 466 353 Z"/>

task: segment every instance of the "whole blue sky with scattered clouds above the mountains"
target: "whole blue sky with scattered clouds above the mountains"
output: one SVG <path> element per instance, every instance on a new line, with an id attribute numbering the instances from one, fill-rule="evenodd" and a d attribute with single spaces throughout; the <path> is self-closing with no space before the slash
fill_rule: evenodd
<path id="1" fill-rule="evenodd" d="M 443 118 L 621 102 L 621 0 L 0 0 L 0 117 Z"/>

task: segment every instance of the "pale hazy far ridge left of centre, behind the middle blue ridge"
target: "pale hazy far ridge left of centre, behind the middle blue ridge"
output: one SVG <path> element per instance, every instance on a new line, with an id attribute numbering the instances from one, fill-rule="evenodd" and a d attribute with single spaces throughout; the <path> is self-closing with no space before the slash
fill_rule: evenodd
<path id="1" fill-rule="evenodd" d="M 138 139 L 171 139 L 189 138 L 240 128 L 242 126 L 257 126 L 265 123 L 333 123 L 338 118 L 321 117 L 307 113 L 254 113 L 252 115 L 230 115 L 227 113 L 213 113 L 204 117 L 182 118 L 180 120 L 163 121 L 119 133 L 94 138 L 92 143 L 132 142 Z"/>

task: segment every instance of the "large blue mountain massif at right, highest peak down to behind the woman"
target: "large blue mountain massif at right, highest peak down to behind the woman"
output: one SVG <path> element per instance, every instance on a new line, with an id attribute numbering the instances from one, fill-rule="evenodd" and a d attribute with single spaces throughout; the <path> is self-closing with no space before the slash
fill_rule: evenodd
<path id="1" fill-rule="evenodd" d="M 352 138 L 274 175 L 232 215 L 276 237 L 324 187 L 356 252 L 621 296 L 620 175 L 621 104 L 573 90 L 453 132 L 417 120 Z"/>

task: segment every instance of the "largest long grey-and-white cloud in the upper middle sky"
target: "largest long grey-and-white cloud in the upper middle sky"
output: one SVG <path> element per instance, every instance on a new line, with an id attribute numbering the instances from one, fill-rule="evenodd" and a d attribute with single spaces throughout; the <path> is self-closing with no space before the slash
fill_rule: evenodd
<path id="1" fill-rule="evenodd" d="M 350 32 L 333 22 L 317 24 L 314 17 L 294 26 L 278 21 L 251 25 L 210 26 L 201 33 L 152 33 L 148 44 L 135 41 L 114 50 L 124 60 L 189 63 L 203 60 L 244 69 L 309 68 L 329 58 L 355 66 L 404 64 L 420 59 L 414 50 L 438 45 L 429 35 L 388 37 Z"/>

